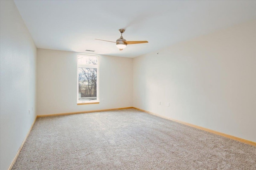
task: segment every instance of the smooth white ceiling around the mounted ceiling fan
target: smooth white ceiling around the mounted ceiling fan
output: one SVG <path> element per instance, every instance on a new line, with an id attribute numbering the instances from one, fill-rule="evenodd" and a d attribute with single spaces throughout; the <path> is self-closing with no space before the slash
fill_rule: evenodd
<path id="1" fill-rule="evenodd" d="M 256 1 L 15 0 L 38 48 L 137 57 L 256 18 Z M 148 41 L 119 51 L 115 43 Z"/>

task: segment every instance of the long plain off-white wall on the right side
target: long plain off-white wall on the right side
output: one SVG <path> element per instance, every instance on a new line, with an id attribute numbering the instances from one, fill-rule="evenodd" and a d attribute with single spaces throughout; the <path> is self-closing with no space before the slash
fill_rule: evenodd
<path id="1" fill-rule="evenodd" d="M 133 64 L 134 107 L 256 142 L 255 20 Z"/>

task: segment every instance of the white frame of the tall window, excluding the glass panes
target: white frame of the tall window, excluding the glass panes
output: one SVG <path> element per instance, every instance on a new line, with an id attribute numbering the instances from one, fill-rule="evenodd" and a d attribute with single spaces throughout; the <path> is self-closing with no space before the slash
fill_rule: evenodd
<path id="1" fill-rule="evenodd" d="M 98 64 L 97 65 L 93 65 L 93 64 L 78 64 L 78 58 L 80 56 L 88 56 L 88 57 L 96 57 L 97 60 L 98 60 Z M 100 85 L 99 85 L 99 56 L 98 55 L 91 55 L 91 54 L 78 54 L 77 57 L 76 57 L 76 63 L 77 63 L 77 105 L 83 105 L 83 104 L 99 104 L 100 103 L 100 97 L 99 97 L 99 94 L 100 94 Z M 78 80 L 78 77 L 79 77 L 79 67 L 82 67 L 82 68 L 97 68 L 97 92 L 96 92 L 96 100 L 90 100 L 90 101 L 79 101 L 79 80 Z"/>

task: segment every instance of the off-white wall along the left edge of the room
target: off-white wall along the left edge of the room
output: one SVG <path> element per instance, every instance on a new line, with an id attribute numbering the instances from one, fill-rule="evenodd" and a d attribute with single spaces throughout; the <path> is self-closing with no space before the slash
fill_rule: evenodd
<path id="1" fill-rule="evenodd" d="M 14 2 L 0 6 L 0 169 L 6 170 L 36 118 L 36 46 Z"/>

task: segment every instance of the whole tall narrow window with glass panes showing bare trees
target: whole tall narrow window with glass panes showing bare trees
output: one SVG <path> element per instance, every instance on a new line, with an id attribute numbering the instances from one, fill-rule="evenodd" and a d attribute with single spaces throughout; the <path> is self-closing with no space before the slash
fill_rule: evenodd
<path id="1" fill-rule="evenodd" d="M 94 55 L 78 55 L 78 98 L 77 104 L 99 103 L 99 57 Z"/>

